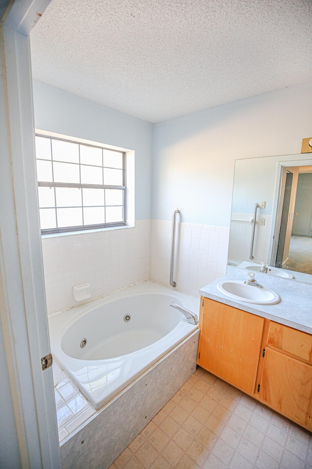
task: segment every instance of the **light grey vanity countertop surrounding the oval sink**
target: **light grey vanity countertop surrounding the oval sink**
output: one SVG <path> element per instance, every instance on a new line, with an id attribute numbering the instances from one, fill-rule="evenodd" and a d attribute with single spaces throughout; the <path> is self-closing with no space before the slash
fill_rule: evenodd
<path id="1" fill-rule="evenodd" d="M 238 270 L 238 269 L 237 269 Z M 258 282 L 261 285 L 271 288 L 276 292 L 280 297 L 280 302 L 277 304 L 252 304 L 246 303 L 243 301 L 236 301 L 217 289 L 217 284 L 222 280 L 237 280 L 238 276 L 226 274 L 221 278 L 218 278 L 214 282 L 206 285 L 205 287 L 199 290 L 200 295 L 219 301 L 220 303 L 228 304 L 234 306 L 234 308 L 242 309 L 248 313 L 261 316 L 280 324 L 285 324 L 286 326 L 293 327 L 308 334 L 312 334 L 312 294 L 311 292 L 307 293 L 298 293 L 291 291 L 289 287 L 289 281 L 285 280 L 280 282 L 283 288 L 276 287 L 272 285 L 270 279 L 256 277 Z M 241 276 L 239 276 L 241 277 Z M 246 276 L 245 276 L 246 277 Z M 245 280 L 246 278 L 242 277 L 241 279 Z M 271 277 L 271 276 L 270 276 Z M 255 288 L 255 287 L 251 287 Z"/>

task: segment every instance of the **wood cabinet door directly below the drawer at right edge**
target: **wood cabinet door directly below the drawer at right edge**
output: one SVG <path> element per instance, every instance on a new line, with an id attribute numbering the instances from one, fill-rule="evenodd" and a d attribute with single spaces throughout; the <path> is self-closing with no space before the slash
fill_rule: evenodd
<path id="1" fill-rule="evenodd" d="M 267 347 L 259 399 L 312 430 L 311 396 L 312 366 Z"/>

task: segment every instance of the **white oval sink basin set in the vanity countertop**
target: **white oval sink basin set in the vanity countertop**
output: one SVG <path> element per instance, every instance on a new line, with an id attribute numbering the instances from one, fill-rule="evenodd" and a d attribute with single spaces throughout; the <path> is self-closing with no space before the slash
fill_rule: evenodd
<path id="1" fill-rule="evenodd" d="M 245 303 L 275 304 L 280 299 L 270 288 L 253 287 L 243 280 L 223 280 L 217 284 L 217 289 L 224 295 Z"/>

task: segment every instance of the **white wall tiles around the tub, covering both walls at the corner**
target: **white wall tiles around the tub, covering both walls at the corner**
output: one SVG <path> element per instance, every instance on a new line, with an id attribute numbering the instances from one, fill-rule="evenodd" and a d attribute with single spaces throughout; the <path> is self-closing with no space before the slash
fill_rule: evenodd
<path id="1" fill-rule="evenodd" d="M 135 227 L 42 238 L 48 313 L 71 308 L 73 286 L 90 283 L 98 298 L 151 279 L 169 286 L 172 222 L 138 220 Z M 176 225 L 176 290 L 199 288 L 225 274 L 229 228 Z"/>

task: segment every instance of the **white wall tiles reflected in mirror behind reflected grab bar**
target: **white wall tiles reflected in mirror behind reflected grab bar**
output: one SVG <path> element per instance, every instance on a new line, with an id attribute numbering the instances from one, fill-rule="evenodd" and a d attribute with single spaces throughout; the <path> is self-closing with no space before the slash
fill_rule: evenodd
<path id="1" fill-rule="evenodd" d="M 253 225 L 250 220 L 253 213 L 232 213 L 231 236 L 229 242 L 229 259 L 238 263 L 249 260 Z M 265 225 L 260 225 L 260 218 L 265 219 Z M 272 215 L 257 213 L 254 234 L 254 260 L 264 262 L 268 258 Z"/>

